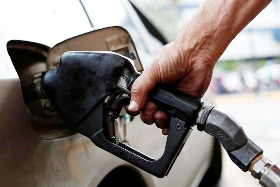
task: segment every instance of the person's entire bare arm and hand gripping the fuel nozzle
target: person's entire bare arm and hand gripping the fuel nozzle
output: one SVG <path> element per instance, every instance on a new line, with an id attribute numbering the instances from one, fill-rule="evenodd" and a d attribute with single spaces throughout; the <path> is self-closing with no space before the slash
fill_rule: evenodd
<path id="1" fill-rule="evenodd" d="M 207 90 L 214 65 L 234 37 L 268 5 L 271 0 L 207 0 L 184 24 L 177 39 L 162 47 L 152 63 L 131 88 L 129 114 L 147 124 L 156 123 L 162 133 L 167 116 L 147 102 L 156 84 L 168 84 L 201 98 Z"/>

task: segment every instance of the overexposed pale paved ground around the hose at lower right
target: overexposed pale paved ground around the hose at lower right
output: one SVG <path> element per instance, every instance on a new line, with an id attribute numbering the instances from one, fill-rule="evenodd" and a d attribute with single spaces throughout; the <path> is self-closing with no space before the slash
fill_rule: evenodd
<path id="1" fill-rule="evenodd" d="M 280 164 L 280 92 L 221 95 L 215 106 L 230 113 L 247 136 L 264 149 L 264 156 Z M 243 173 L 223 151 L 222 179 L 218 187 L 260 186 L 250 172 Z"/>

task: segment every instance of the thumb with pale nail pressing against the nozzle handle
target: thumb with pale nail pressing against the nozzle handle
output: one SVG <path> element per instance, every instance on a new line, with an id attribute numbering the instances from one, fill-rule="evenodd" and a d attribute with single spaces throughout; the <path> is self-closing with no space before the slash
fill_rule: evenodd
<path id="1" fill-rule="evenodd" d="M 152 71 L 152 68 L 143 71 L 132 85 L 129 112 L 139 113 L 141 111 L 147 103 L 148 93 L 156 86 L 156 83 L 155 72 Z"/>

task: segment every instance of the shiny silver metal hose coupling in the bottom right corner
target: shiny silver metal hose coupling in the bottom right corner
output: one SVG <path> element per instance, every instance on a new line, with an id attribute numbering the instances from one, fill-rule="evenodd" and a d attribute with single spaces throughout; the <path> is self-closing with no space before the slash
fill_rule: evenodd
<path id="1" fill-rule="evenodd" d="M 280 167 L 263 155 L 257 156 L 250 164 L 251 175 L 264 187 L 280 187 Z"/>

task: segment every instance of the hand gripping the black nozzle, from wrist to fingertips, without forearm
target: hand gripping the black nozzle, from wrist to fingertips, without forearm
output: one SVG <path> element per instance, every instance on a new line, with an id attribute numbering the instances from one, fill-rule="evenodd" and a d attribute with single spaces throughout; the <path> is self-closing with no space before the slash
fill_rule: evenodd
<path id="1" fill-rule="evenodd" d="M 131 103 L 128 113 L 137 115 L 143 122 L 162 128 L 162 133 L 168 133 L 165 126 L 167 116 L 158 111 L 156 104 L 147 101 L 148 93 L 156 84 L 172 85 L 175 88 L 201 98 L 207 90 L 212 77 L 212 70 L 216 62 L 211 55 L 194 55 L 194 50 L 184 49 L 179 41 L 175 41 L 162 47 L 152 63 L 135 80 L 131 89 Z M 189 55 L 189 54 L 192 55 Z M 200 52 L 199 52 L 200 53 Z"/>

